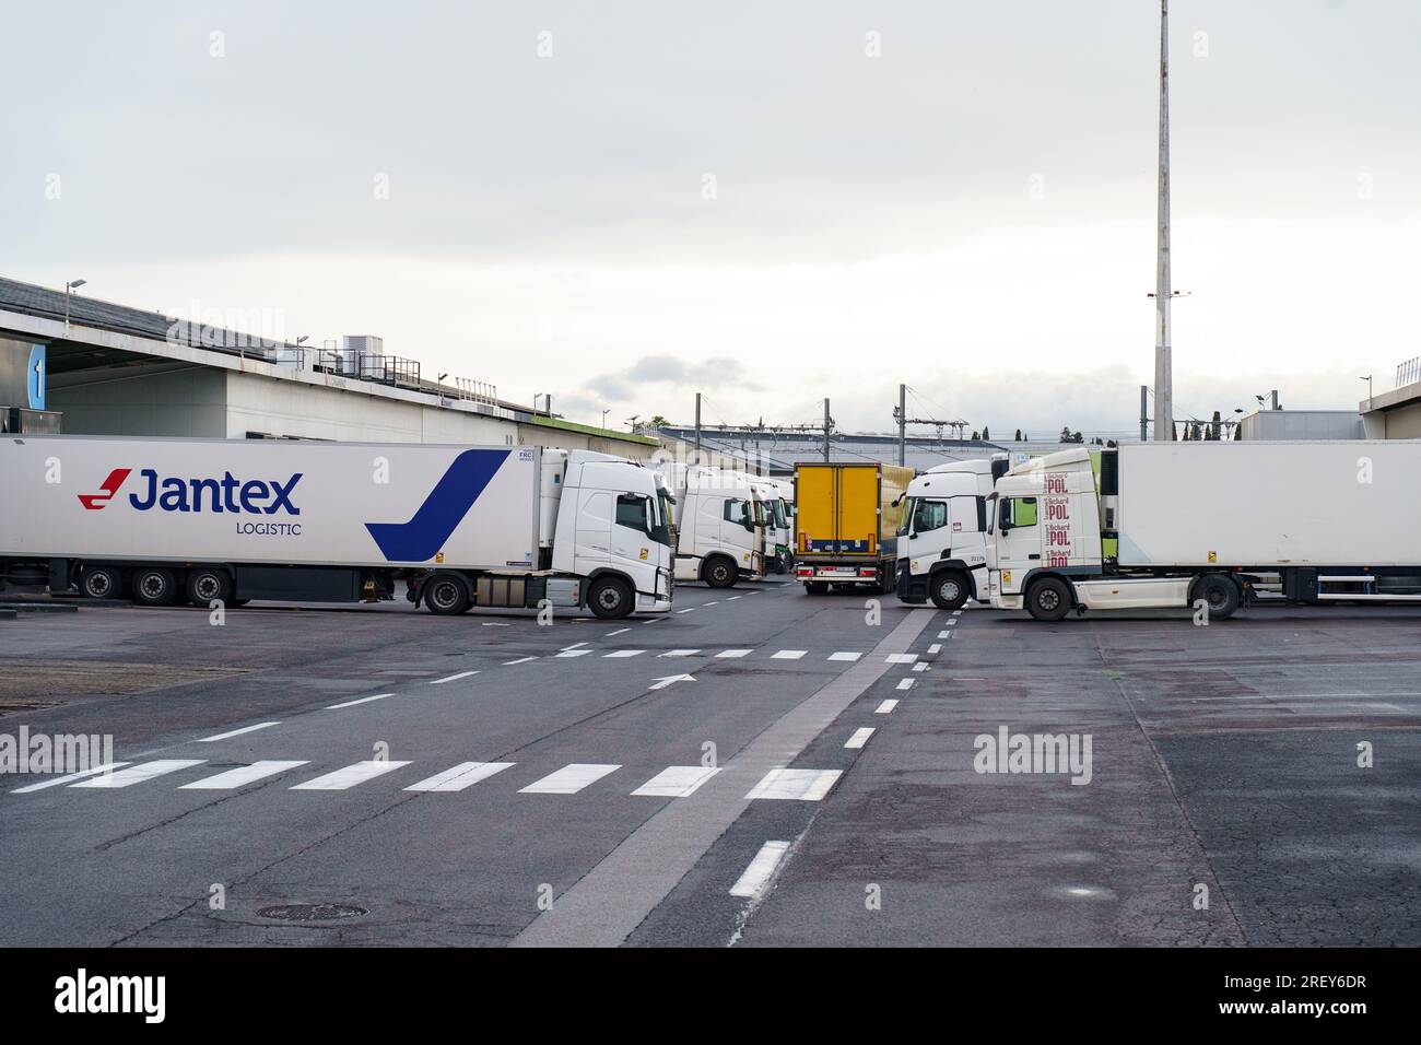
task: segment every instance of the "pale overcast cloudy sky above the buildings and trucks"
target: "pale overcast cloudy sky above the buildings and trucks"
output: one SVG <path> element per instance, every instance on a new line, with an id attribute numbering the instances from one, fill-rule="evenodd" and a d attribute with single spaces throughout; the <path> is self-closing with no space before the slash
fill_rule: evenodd
<path id="1" fill-rule="evenodd" d="M 1421 354 L 1421 4 L 1171 4 L 1177 415 Z M 13 6 L 0 274 L 573 419 L 1137 429 L 1154 0 Z"/>

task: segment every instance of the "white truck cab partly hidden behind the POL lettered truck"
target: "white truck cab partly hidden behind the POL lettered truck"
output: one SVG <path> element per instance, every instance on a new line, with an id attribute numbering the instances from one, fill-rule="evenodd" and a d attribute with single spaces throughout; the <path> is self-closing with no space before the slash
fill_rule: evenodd
<path id="1" fill-rule="evenodd" d="M 1007 469 L 992 459 L 936 465 L 908 483 L 898 532 L 898 599 L 956 610 L 988 599 L 988 498 Z"/>

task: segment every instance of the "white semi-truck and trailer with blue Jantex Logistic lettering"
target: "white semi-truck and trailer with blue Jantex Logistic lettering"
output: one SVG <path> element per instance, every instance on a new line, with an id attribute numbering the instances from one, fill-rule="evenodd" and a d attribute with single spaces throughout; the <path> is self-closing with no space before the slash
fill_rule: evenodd
<path id="1" fill-rule="evenodd" d="M 655 478 L 533 446 L 0 441 L 0 574 L 145 606 L 406 596 L 439 614 L 671 609 Z"/>

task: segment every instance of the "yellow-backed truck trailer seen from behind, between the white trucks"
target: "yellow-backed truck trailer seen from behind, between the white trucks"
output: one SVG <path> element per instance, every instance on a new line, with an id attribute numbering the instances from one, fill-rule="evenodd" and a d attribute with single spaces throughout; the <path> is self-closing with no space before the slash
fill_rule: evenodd
<path id="1" fill-rule="evenodd" d="M 811 596 L 830 584 L 892 591 L 911 468 L 794 465 L 794 574 Z"/>

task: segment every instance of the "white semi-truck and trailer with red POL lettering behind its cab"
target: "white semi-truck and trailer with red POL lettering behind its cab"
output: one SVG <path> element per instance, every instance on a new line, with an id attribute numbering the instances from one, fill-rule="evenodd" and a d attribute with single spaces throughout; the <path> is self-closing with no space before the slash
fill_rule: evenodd
<path id="1" fill-rule="evenodd" d="M 1148 442 L 1017 465 L 992 495 L 992 604 L 1199 607 L 1260 577 L 1285 600 L 1421 601 L 1421 441 Z"/>

